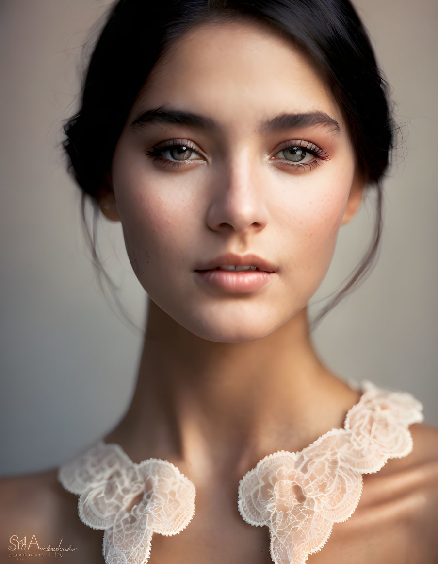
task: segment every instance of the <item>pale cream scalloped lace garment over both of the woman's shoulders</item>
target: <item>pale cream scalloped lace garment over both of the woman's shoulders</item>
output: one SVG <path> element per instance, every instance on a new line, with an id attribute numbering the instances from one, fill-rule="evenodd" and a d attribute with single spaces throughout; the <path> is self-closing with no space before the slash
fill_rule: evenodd
<path id="1" fill-rule="evenodd" d="M 303 564 L 327 542 L 333 523 L 359 503 L 362 474 L 412 451 L 409 425 L 423 421 L 411 394 L 361 383 L 363 394 L 343 429 L 332 429 L 301 452 L 275 452 L 240 480 L 238 508 L 250 525 L 270 530 L 275 564 Z M 195 486 L 170 462 L 135 464 L 118 444 L 95 446 L 61 466 L 62 486 L 79 495 L 78 512 L 104 530 L 106 564 L 148 562 L 154 533 L 176 535 L 195 512 Z"/>

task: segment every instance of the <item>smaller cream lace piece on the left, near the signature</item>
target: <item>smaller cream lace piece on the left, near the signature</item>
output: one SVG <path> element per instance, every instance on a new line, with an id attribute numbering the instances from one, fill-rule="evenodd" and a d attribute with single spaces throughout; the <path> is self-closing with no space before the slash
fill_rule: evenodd
<path id="1" fill-rule="evenodd" d="M 195 487 L 173 464 L 134 464 L 118 444 L 102 440 L 62 466 L 58 479 L 79 495 L 81 521 L 105 530 L 106 564 L 148 562 L 153 533 L 176 535 L 195 512 Z"/>

